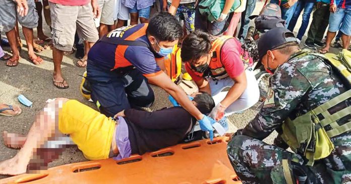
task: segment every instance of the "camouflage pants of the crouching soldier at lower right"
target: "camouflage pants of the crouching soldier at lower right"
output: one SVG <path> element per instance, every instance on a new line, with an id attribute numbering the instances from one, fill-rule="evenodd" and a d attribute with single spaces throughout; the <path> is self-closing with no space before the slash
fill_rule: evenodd
<path id="1" fill-rule="evenodd" d="M 228 143 L 227 153 L 231 165 L 244 184 L 286 183 L 282 171 L 282 160 L 286 159 L 290 168 L 291 161 L 296 164 L 303 163 L 302 157 L 298 154 L 243 135 L 232 138 Z M 331 180 L 330 169 L 326 168 L 327 166 L 323 161 L 316 162 L 313 167 L 303 167 L 306 169 L 312 183 L 336 183 Z M 349 180 L 351 176 L 347 176 L 351 175 L 351 172 L 342 172 L 342 177 L 347 177 L 342 179 L 342 183 L 351 182 Z"/>

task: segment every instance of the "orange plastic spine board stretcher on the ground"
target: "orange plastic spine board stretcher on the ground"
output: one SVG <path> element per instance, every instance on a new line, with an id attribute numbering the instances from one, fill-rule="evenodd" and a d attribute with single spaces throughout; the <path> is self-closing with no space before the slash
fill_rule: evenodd
<path id="1" fill-rule="evenodd" d="M 228 137 L 195 141 L 142 156 L 78 162 L 39 174 L 21 174 L 0 183 L 241 183 L 226 154 Z M 167 156 L 164 156 L 167 155 Z"/>

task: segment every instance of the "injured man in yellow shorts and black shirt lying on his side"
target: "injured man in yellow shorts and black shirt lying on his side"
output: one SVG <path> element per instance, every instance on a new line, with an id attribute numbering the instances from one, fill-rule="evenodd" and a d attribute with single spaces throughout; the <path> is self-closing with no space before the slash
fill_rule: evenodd
<path id="1" fill-rule="evenodd" d="M 211 112 L 214 101 L 209 94 L 197 93 L 193 97 L 193 103 L 202 113 Z M 33 162 L 45 162 L 40 158 L 43 157 L 40 150 L 52 148 L 48 143 L 55 140 L 65 142 L 65 135 L 70 136 L 89 160 L 109 157 L 119 160 L 179 144 L 195 124 L 196 119 L 183 107 L 153 112 L 126 109 L 112 118 L 76 100 L 56 98 L 37 113 L 27 136 L 4 132 L 6 146 L 21 150 L 0 163 L 0 174 L 25 173 Z M 55 155 L 62 154 L 64 144 L 54 151 Z"/>

